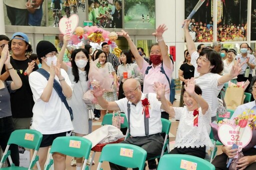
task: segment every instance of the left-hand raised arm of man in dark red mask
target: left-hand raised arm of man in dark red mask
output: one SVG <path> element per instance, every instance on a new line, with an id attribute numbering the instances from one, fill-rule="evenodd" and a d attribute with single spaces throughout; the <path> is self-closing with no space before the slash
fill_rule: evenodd
<path id="1" fill-rule="evenodd" d="M 142 69 L 143 60 L 144 60 L 144 59 L 143 59 L 143 57 L 141 57 L 141 56 L 139 55 L 138 50 L 137 50 L 137 47 L 136 47 L 135 44 L 132 42 L 132 40 L 131 40 L 131 38 L 130 38 L 128 32 L 125 32 L 124 30 L 121 30 L 121 32 L 116 32 L 116 33 L 117 33 L 117 35 L 119 35 L 119 36 L 123 36 L 123 37 L 127 40 L 128 44 L 129 44 L 129 47 L 130 47 L 130 51 L 131 51 L 131 53 L 133 54 L 133 56 L 134 56 L 134 58 L 135 58 L 135 60 L 136 60 L 136 63 L 137 63 L 137 65 L 138 65 L 138 67 L 139 67 L 140 69 Z"/>

